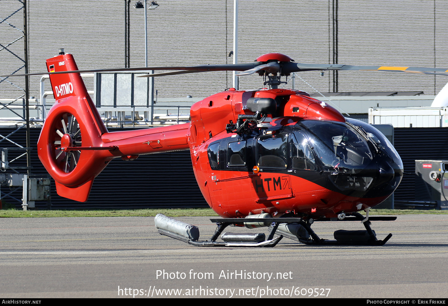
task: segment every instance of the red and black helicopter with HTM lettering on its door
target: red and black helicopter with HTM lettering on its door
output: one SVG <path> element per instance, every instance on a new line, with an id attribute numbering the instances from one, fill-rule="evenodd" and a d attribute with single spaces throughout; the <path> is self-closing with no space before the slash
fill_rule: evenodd
<path id="1" fill-rule="evenodd" d="M 160 234 L 196 246 L 275 246 L 283 236 L 306 244 L 383 245 L 368 217 L 371 207 L 396 189 L 403 176 L 392 144 L 367 123 L 345 118 L 327 103 L 294 89 L 279 89 L 281 77 L 310 70 L 377 70 L 445 74 L 447 69 L 344 64 L 299 64 L 268 53 L 249 64 L 97 69 L 176 70 L 147 76 L 233 70 L 258 73 L 267 88 L 230 88 L 196 102 L 190 123 L 108 132 L 71 54 L 47 59 L 56 103 L 47 115 L 38 154 L 56 182 L 58 195 L 86 201 L 95 177 L 112 159 L 189 149 L 207 203 L 221 219 L 215 234 L 199 240 L 198 228 L 158 215 Z M 445 72 L 445 73 L 444 73 Z M 363 217 L 361 210 L 367 212 Z M 336 231 L 320 239 L 314 221 L 360 220 L 366 230 Z M 228 225 L 271 226 L 264 234 L 224 233 Z M 280 236 L 274 238 L 275 234 Z M 222 234 L 224 242 L 217 242 Z"/>

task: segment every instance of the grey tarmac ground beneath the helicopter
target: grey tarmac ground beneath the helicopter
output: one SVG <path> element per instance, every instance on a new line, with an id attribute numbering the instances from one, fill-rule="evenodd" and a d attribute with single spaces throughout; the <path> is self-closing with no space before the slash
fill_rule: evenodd
<path id="1" fill-rule="evenodd" d="M 210 217 L 178 217 L 207 240 Z M 384 246 L 195 247 L 157 233 L 153 217 L 0 219 L 0 298 L 447 298 L 448 216 L 373 221 Z M 333 239 L 359 221 L 314 222 Z M 230 232 L 266 233 L 266 228 Z"/>

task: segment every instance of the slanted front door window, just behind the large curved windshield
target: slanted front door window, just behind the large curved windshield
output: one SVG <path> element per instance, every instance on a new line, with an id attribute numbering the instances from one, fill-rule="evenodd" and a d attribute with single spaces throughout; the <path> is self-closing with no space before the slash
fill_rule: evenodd
<path id="1" fill-rule="evenodd" d="M 302 131 L 295 131 L 291 134 L 289 148 L 293 169 L 317 170 L 308 137 Z"/>

